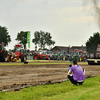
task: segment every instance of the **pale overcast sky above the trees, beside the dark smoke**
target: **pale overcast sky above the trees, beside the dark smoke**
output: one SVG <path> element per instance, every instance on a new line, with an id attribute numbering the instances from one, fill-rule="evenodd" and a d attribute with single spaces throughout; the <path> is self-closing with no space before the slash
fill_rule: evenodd
<path id="1" fill-rule="evenodd" d="M 54 46 L 81 46 L 99 32 L 92 4 L 83 0 L 0 0 L 0 26 L 8 29 L 13 49 L 20 31 L 51 33 Z M 31 42 L 31 50 L 35 45 Z"/>

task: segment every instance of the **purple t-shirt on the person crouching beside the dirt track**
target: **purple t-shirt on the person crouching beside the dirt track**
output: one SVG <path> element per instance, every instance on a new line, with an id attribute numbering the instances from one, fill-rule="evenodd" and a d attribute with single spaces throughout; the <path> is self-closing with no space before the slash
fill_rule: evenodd
<path id="1" fill-rule="evenodd" d="M 75 81 L 84 81 L 85 75 L 81 66 L 74 65 L 71 67 L 71 72 L 73 72 L 73 79 Z"/>

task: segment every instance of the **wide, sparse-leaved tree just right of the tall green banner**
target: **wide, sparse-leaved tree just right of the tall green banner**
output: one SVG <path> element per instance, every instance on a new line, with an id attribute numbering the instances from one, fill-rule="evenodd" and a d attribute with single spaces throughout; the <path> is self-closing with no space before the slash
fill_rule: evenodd
<path id="1" fill-rule="evenodd" d="M 43 32 L 43 31 L 36 31 L 34 33 L 34 39 L 32 42 L 35 45 L 39 45 L 40 48 L 45 48 L 45 46 L 51 46 L 55 44 L 55 41 L 52 40 L 52 36 L 49 32 Z"/>

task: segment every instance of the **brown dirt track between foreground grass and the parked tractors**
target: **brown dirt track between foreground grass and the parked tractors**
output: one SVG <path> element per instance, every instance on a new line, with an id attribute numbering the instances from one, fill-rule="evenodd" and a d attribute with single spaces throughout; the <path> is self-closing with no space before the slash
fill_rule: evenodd
<path id="1" fill-rule="evenodd" d="M 100 65 L 80 64 L 86 77 L 100 75 Z M 68 80 L 68 64 L 0 65 L 0 91 Z"/>

